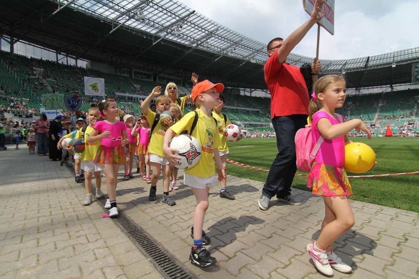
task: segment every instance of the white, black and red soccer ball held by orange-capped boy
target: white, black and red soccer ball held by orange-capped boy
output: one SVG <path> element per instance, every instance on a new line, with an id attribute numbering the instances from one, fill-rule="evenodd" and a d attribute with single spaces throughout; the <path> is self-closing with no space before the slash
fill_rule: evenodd
<path id="1" fill-rule="evenodd" d="M 201 144 L 192 136 L 179 135 L 170 140 L 169 147 L 178 149 L 175 154 L 182 158 L 176 163 L 177 168 L 195 167 L 201 159 Z"/>

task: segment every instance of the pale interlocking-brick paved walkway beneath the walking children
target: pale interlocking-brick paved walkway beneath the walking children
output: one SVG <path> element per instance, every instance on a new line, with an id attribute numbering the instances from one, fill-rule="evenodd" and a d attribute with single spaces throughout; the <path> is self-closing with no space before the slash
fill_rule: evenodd
<path id="1" fill-rule="evenodd" d="M 121 172 L 120 172 L 121 174 Z M 120 177 L 120 180 L 122 177 Z M 106 192 L 106 182 L 102 189 Z M 181 180 L 180 180 L 181 182 Z M 177 205 L 148 201 L 149 184 L 138 174 L 118 183 L 118 207 L 202 279 L 324 278 L 305 246 L 324 217 L 320 198 L 294 190 L 303 204 L 271 201 L 261 211 L 262 183 L 229 177 L 236 200 L 210 193 L 204 229 L 218 263 L 201 269 L 188 261 L 195 199 L 181 186 Z M 85 191 L 67 167 L 29 155 L 24 145 L 0 151 L 0 278 L 162 278 L 150 261 L 97 203 L 83 206 Z M 356 224 L 335 250 L 354 269 L 334 278 L 419 278 L 419 214 L 358 201 Z"/>

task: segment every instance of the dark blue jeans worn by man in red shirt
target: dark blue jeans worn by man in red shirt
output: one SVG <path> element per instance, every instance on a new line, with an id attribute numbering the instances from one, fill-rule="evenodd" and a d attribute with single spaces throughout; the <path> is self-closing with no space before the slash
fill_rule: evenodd
<path id="1" fill-rule="evenodd" d="M 278 154 L 270 166 L 262 195 L 269 198 L 276 195 L 281 198 L 291 194 L 291 184 L 297 171 L 295 136 L 297 130 L 306 124 L 307 115 L 302 114 L 272 118 Z"/>

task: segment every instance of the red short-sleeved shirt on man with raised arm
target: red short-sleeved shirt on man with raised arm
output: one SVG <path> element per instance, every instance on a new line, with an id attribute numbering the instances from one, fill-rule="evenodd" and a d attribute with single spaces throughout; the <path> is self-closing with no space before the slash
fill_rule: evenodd
<path id="1" fill-rule="evenodd" d="M 308 114 L 308 92 L 299 67 L 278 62 L 278 52 L 264 66 L 265 82 L 270 92 L 270 118 Z"/>

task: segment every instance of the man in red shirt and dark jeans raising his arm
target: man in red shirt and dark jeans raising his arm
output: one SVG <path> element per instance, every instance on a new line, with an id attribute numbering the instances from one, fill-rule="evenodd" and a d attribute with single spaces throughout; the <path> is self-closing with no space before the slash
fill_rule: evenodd
<path id="1" fill-rule="evenodd" d="M 324 0 L 316 0 L 310 18 L 284 41 L 274 38 L 268 43 L 268 60 L 265 63 L 265 82 L 270 92 L 270 117 L 276 134 L 278 154 L 269 169 L 258 204 L 267 210 L 274 195 L 284 202 L 300 205 L 291 195 L 291 184 L 297 171 L 295 135 L 307 124 L 309 94 L 300 68 L 285 62 L 287 56 L 313 25 L 319 22 Z M 321 70 L 316 58 L 311 64 L 312 80 L 317 80 Z"/>

